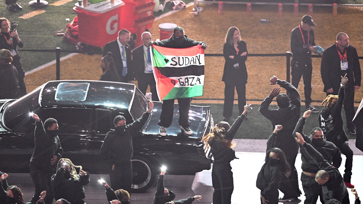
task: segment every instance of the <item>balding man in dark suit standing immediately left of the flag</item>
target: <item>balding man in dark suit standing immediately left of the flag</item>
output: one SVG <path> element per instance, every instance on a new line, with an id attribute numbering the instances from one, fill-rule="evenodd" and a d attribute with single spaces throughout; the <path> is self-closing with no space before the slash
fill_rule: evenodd
<path id="1" fill-rule="evenodd" d="M 138 81 L 138 87 L 141 93 L 145 95 L 147 86 L 150 86 L 152 101 L 159 101 L 151 66 L 151 49 L 149 45 L 149 42 L 152 40 L 151 33 L 143 32 L 141 39 L 143 44 L 135 48 L 132 52 L 132 72 Z"/>

